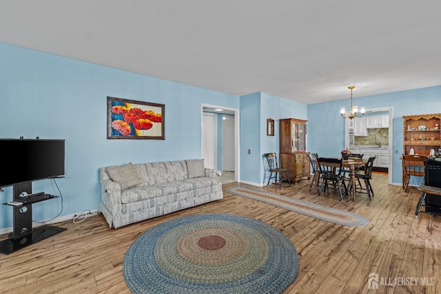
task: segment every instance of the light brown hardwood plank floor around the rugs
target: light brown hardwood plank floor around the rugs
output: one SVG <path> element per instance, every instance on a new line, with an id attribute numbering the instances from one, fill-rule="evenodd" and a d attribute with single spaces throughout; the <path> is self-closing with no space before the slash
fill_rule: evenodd
<path id="1" fill-rule="evenodd" d="M 222 200 L 119 229 L 109 229 L 101 215 L 79 224 L 59 223 L 68 230 L 0 254 L 0 292 L 130 293 L 123 258 L 143 231 L 194 213 L 236 213 L 271 224 L 296 246 L 300 268 L 285 293 L 441 293 L 441 217 L 420 213 L 413 218 L 420 193 L 387 185 L 387 175 L 373 174 L 372 184 L 375 197 L 370 202 L 365 194 L 355 202 L 341 202 L 333 191 L 316 196 L 307 180 L 283 190 L 278 185 L 254 187 L 359 213 L 369 219 L 366 227 L 331 224 L 226 192 Z M 378 274 L 378 290 L 369 290 L 369 273 Z"/>

